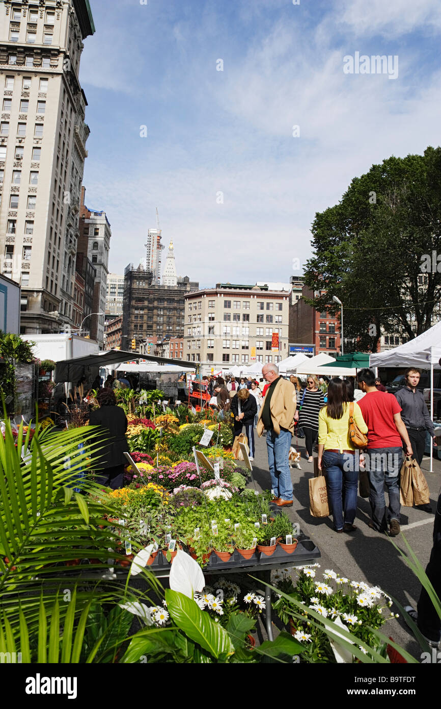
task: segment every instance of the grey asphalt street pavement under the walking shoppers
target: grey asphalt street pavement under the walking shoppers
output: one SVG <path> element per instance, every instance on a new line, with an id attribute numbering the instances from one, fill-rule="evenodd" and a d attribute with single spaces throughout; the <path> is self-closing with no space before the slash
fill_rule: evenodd
<path id="1" fill-rule="evenodd" d="M 255 431 L 256 454 L 253 462 L 253 476 L 256 486 L 260 490 L 271 488 L 268 472 L 268 458 L 266 454 L 265 435 L 258 438 Z M 297 447 L 294 438 L 292 445 Z M 351 534 L 336 534 L 333 531 L 332 518 L 314 518 L 309 512 L 309 479 L 314 476 L 314 464 L 309 463 L 305 457 L 304 441 L 298 441 L 302 453 L 300 462 L 301 470 L 291 469 L 293 484 L 294 504 L 292 508 L 284 508 L 293 522 L 298 522 L 304 534 L 311 537 L 321 552 L 320 571 L 333 569 L 341 576 L 346 576 L 351 581 L 365 581 L 371 586 L 380 586 L 392 598 L 396 598 L 401 605 L 413 605 L 420 594 L 420 583 L 399 551 L 394 547 L 392 540 L 386 535 L 370 529 L 370 504 L 365 498 L 358 497 L 357 516 L 355 526 L 357 531 Z M 430 501 L 435 510 L 441 480 L 441 461 L 433 459 L 433 472 L 430 473 L 430 459 L 424 458 L 421 464 L 430 489 Z M 386 494 L 387 503 L 387 494 Z M 413 552 L 425 568 L 430 557 L 433 540 L 434 514 L 417 510 L 416 508 L 401 508 L 401 532 L 411 545 Z M 401 538 L 394 537 L 397 546 L 406 552 L 406 545 Z M 391 610 L 399 613 L 394 605 Z M 401 616 L 401 614 L 400 614 Z M 391 637 L 401 647 L 420 659 L 420 649 L 413 635 L 400 617 L 399 620 L 388 621 L 382 632 Z"/>

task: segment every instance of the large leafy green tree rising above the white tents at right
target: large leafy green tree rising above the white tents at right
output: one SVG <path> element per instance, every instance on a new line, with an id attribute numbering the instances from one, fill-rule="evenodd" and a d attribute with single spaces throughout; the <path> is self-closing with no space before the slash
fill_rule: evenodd
<path id="1" fill-rule="evenodd" d="M 381 327 L 407 339 L 425 332 L 441 298 L 441 262 L 432 257 L 441 260 L 441 148 L 372 165 L 316 214 L 311 232 L 307 302 L 337 313 L 338 296 L 356 349 L 376 351 Z"/>

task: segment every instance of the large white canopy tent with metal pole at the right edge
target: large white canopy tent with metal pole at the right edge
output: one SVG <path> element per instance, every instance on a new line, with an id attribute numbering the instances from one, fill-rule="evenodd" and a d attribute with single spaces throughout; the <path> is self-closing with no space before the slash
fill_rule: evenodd
<path id="1" fill-rule="evenodd" d="M 433 370 L 440 369 L 441 320 L 413 340 L 386 352 L 370 355 L 370 367 L 418 367 L 430 369 L 430 418 L 433 420 Z M 433 471 L 433 445 L 430 444 L 430 472 Z"/>

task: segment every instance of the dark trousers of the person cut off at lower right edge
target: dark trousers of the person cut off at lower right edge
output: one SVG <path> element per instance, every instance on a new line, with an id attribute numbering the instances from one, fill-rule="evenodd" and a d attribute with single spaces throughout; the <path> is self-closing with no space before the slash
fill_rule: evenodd
<path id="1" fill-rule="evenodd" d="M 426 566 L 430 583 L 435 588 L 438 598 L 441 598 L 441 495 L 438 498 L 437 510 L 435 513 L 435 525 L 433 527 L 433 547 L 430 560 Z M 441 640 L 441 620 L 437 614 L 428 592 L 421 589 L 420 600 L 418 601 L 418 627 L 420 631 L 433 642 Z"/>

